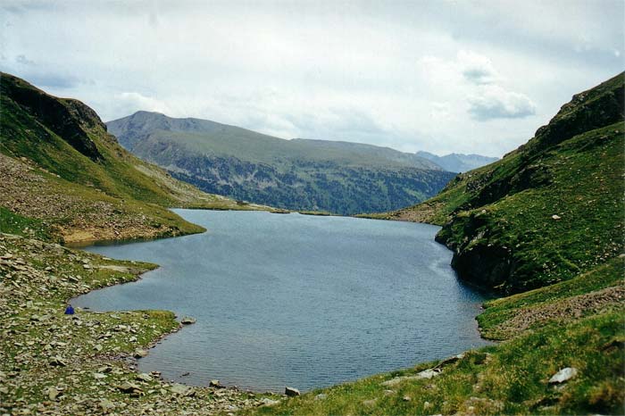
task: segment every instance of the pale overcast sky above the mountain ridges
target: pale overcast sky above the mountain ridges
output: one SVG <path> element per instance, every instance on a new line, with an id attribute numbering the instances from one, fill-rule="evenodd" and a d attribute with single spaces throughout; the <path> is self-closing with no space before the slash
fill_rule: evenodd
<path id="1" fill-rule="evenodd" d="M 0 70 L 104 121 L 501 156 L 625 69 L 622 0 L 0 2 Z"/>

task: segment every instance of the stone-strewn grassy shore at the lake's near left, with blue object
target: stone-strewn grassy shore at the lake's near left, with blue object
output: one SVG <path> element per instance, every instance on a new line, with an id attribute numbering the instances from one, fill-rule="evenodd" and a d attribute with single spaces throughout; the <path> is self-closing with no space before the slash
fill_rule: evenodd
<path id="1" fill-rule="evenodd" d="M 171 312 L 63 314 L 68 299 L 154 267 L 0 234 L 0 414 L 203 415 L 278 403 L 210 380 L 187 387 L 137 373 L 133 357 L 179 330 Z"/>

